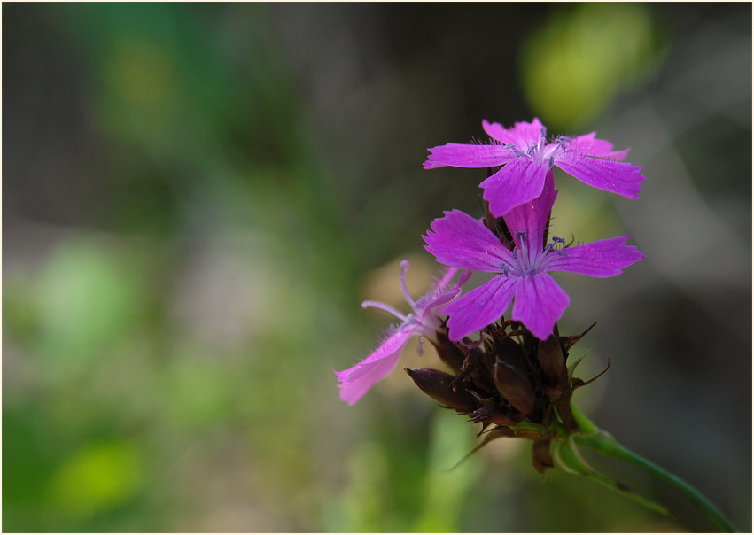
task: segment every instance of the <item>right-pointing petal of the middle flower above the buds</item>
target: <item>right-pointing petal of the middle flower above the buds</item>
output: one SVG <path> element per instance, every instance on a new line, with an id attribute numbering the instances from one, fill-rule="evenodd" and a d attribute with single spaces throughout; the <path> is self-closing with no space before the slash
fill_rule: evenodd
<path id="1" fill-rule="evenodd" d="M 624 245 L 628 238 L 613 237 L 550 252 L 543 268 L 595 277 L 620 275 L 623 268 L 644 258 L 644 254 L 633 245 Z"/>

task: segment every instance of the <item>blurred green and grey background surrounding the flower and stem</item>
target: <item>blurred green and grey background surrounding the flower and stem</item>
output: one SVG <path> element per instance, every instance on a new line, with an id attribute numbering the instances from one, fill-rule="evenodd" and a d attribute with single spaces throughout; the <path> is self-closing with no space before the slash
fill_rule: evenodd
<path id="1" fill-rule="evenodd" d="M 478 429 L 400 367 L 338 399 L 390 322 L 361 300 L 405 306 L 430 221 L 480 213 L 427 147 L 534 116 L 648 177 L 556 178 L 561 236 L 647 255 L 556 276 L 561 332 L 599 322 L 579 375 L 610 362 L 576 401 L 751 529 L 750 4 L 2 10 L 4 531 L 712 530 L 594 456 L 675 518 L 524 441 L 451 470 Z"/>

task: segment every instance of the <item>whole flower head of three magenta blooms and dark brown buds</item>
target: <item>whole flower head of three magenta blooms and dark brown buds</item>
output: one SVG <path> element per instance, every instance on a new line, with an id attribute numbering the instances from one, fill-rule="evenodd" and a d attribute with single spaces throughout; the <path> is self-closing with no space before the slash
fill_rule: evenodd
<path id="1" fill-rule="evenodd" d="M 484 121 L 483 128 L 489 143 L 434 147 L 424 167 L 486 168 L 486 180 L 479 184 L 484 215 L 476 219 L 451 210 L 431 222 L 424 248 L 447 267 L 445 275 L 415 301 L 406 289 L 404 260 L 400 283 L 412 312 L 404 315 L 391 306 L 365 302 L 363 306 L 393 314 L 400 324 L 385 333 L 364 361 L 335 373 L 341 399 L 353 404 L 393 369 L 409 337 L 424 337 L 455 375 L 407 370 L 415 383 L 471 421 L 494 424 L 499 436 L 534 439 L 534 466 L 543 469 L 551 465 L 544 445 L 552 436 L 554 415 L 561 423 L 568 421 L 571 392 L 584 384 L 566 366 L 579 337 L 557 334 L 556 322 L 570 299 L 550 273 L 611 277 L 644 258 L 626 245 L 629 236 L 578 245 L 557 236 L 548 241 L 557 197 L 553 167 L 626 198 L 638 198 L 645 179 L 642 167 L 622 161 L 627 150 L 613 151 L 594 132 L 548 142 L 538 119 L 512 128 Z M 463 272 L 451 284 L 458 270 Z M 493 276 L 462 293 L 475 272 Z M 478 336 L 470 337 L 473 333 Z"/>

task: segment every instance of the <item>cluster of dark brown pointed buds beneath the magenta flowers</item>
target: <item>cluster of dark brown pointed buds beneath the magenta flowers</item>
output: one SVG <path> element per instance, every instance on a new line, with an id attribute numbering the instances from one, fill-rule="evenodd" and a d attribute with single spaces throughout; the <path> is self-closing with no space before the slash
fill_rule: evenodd
<path id="1" fill-rule="evenodd" d="M 447 328 L 435 347 L 452 373 L 409 369 L 425 394 L 481 423 L 487 441 L 501 437 L 533 440 L 532 463 L 540 472 L 553 466 L 549 443 L 559 430 L 578 430 L 571 415 L 571 395 L 586 383 L 567 367 L 571 346 L 581 336 L 546 340 L 534 337 L 521 322 L 502 319 L 482 330 L 477 343 L 452 342 Z"/>

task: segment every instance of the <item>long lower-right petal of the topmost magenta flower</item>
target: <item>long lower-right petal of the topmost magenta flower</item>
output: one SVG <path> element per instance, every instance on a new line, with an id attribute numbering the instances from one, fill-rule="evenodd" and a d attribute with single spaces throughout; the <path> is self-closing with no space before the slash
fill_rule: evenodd
<path id="1" fill-rule="evenodd" d="M 647 180 L 641 174 L 644 167 L 612 159 L 595 158 L 576 151 L 557 154 L 555 165 L 585 184 L 626 198 L 639 198 L 639 184 Z"/>

